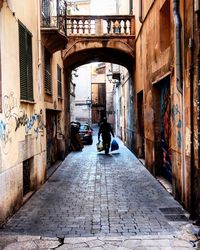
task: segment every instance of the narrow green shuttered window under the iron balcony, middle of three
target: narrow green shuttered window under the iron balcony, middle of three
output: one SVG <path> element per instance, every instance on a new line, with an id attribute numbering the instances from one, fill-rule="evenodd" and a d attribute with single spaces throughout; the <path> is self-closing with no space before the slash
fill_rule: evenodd
<path id="1" fill-rule="evenodd" d="M 44 72 L 44 85 L 45 85 L 45 92 L 47 94 L 52 94 L 52 84 L 51 84 L 51 54 L 50 52 L 45 49 L 44 52 L 44 60 L 45 60 L 45 72 Z"/>

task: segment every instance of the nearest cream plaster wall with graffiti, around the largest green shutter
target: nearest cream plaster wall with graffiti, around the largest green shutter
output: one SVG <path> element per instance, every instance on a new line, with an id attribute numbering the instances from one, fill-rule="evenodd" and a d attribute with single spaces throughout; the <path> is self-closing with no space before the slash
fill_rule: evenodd
<path id="1" fill-rule="evenodd" d="M 4 2 L 0 11 L 0 223 L 22 204 L 23 161 L 37 159 L 31 169 L 31 190 L 38 188 L 45 178 L 45 110 L 40 92 L 38 7 L 39 1 L 12 0 Z M 20 101 L 18 20 L 32 34 L 34 103 Z"/>

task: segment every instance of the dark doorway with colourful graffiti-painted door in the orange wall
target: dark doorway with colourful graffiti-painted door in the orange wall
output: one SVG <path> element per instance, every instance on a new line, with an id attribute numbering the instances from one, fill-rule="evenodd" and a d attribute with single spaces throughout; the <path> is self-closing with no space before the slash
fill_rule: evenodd
<path id="1" fill-rule="evenodd" d="M 155 173 L 172 183 L 170 76 L 154 86 Z"/>

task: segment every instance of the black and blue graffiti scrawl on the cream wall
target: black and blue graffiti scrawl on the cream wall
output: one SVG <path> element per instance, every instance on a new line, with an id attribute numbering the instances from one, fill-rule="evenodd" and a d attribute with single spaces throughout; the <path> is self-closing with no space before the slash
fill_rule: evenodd
<path id="1" fill-rule="evenodd" d="M 20 127 L 24 128 L 25 134 L 34 132 L 36 139 L 39 133 L 44 131 L 42 109 L 39 113 L 34 112 L 32 115 L 28 115 L 18 104 L 13 92 L 3 97 L 3 115 L 4 117 L 0 121 L 0 141 L 4 153 L 7 153 L 8 144 L 12 142 L 11 135 Z"/>

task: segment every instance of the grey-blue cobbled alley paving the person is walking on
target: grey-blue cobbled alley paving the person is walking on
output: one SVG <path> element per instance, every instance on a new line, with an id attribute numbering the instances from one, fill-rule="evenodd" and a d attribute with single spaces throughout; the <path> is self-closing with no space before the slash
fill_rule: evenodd
<path id="1" fill-rule="evenodd" d="M 0 230 L 0 249 L 194 249 L 188 214 L 117 141 L 110 155 L 96 136 L 70 153 Z"/>

